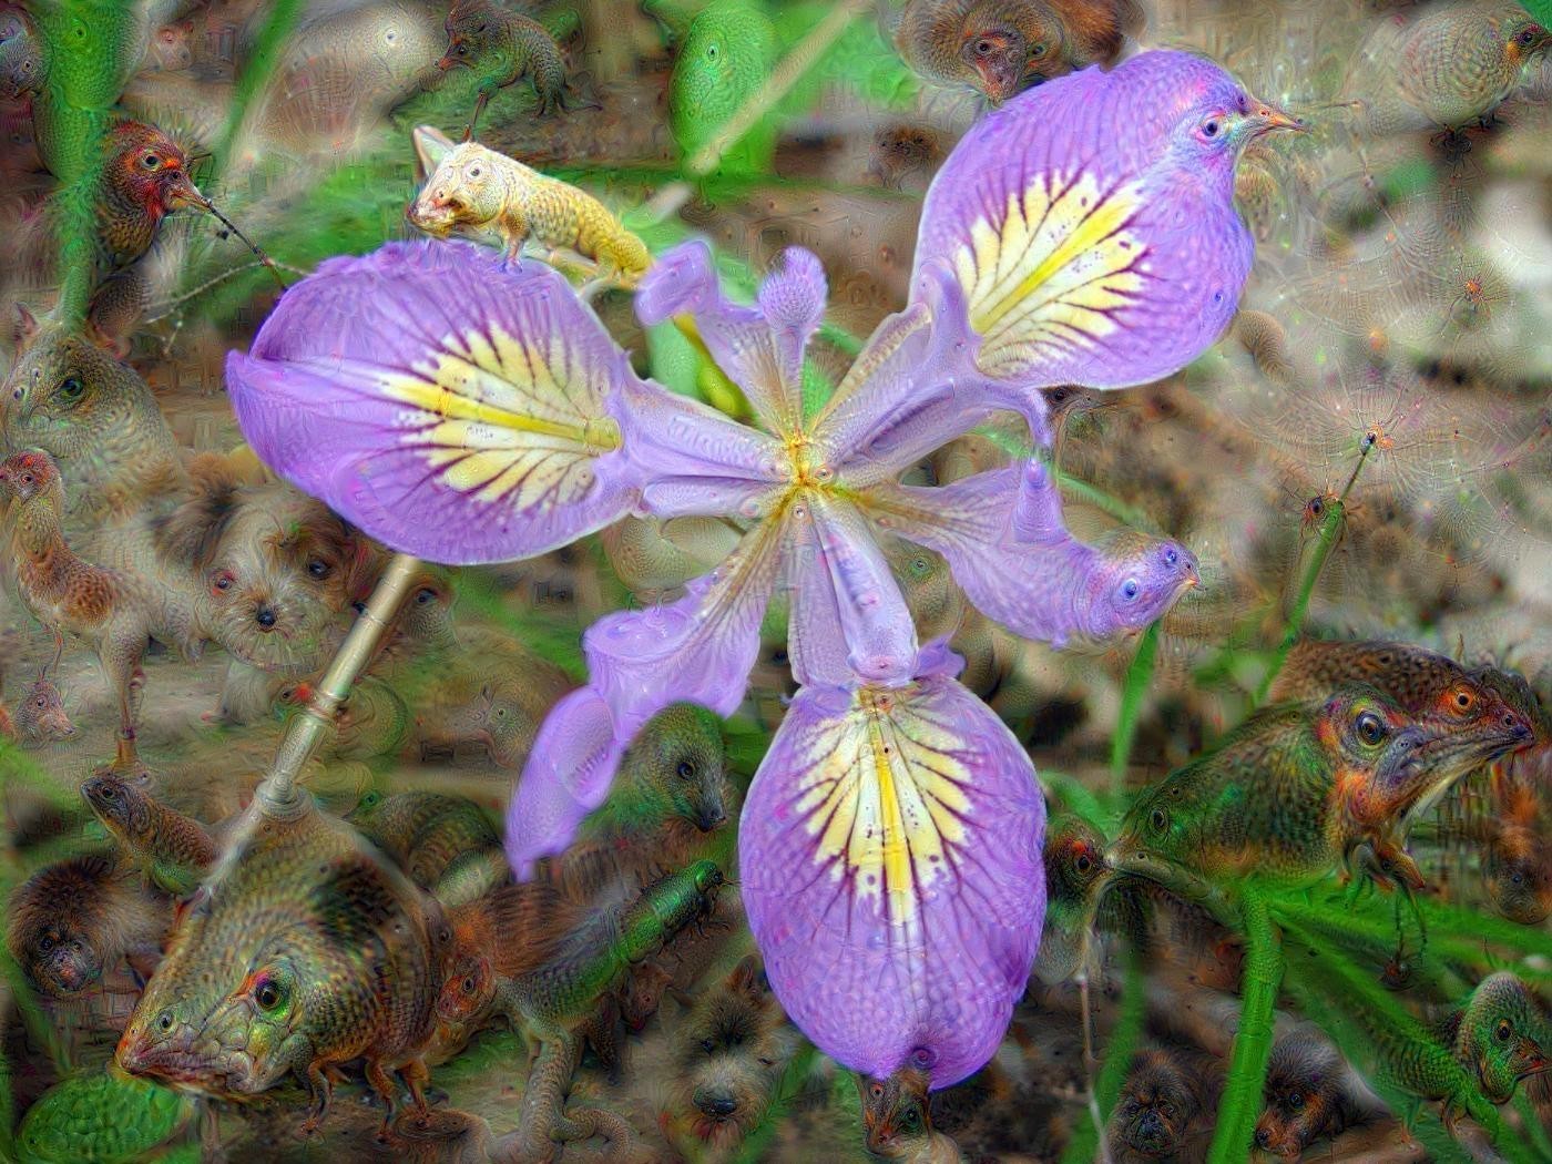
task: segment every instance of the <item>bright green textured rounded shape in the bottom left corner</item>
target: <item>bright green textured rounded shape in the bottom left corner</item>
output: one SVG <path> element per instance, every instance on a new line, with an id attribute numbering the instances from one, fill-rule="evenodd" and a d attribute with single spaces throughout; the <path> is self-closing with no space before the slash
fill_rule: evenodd
<path id="1" fill-rule="evenodd" d="M 26 1110 L 22 1164 L 133 1164 L 194 1116 L 194 1099 L 113 1071 L 71 1076 Z"/>

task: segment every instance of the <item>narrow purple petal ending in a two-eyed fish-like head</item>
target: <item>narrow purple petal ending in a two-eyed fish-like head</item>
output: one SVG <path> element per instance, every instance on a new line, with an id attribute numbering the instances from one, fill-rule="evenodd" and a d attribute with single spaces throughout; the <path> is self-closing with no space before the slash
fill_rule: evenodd
<path id="1" fill-rule="evenodd" d="M 880 486 L 864 503 L 880 525 L 947 557 L 984 615 L 1055 646 L 1141 630 L 1197 584 L 1197 559 L 1178 542 L 1131 531 L 1093 546 L 1074 539 L 1040 461 L 937 489 Z"/>

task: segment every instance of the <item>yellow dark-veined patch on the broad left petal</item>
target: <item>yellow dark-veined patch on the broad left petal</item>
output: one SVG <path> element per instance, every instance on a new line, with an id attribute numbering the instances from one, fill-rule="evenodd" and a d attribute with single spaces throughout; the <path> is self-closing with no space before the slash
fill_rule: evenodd
<path id="1" fill-rule="evenodd" d="M 435 360 L 382 380 L 405 405 L 402 444 L 444 484 L 518 509 L 580 500 L 591 461 L 619 449 L 607 386 L 563 337 L 528 345 L 500 327 L 447 337 Z"/>

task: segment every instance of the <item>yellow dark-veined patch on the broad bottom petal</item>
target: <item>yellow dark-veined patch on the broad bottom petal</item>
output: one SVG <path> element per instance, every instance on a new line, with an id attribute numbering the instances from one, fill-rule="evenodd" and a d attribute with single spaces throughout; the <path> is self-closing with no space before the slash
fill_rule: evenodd
<path id="1" fill-rule="evenodd" d="M 796 798 L 815 861 L 857 897 L 882 899 L 891 923 L 908 930 L 965 843 L 970 810 L 964 739 L 911 694 L 858 691 L 813 740 Z"/>

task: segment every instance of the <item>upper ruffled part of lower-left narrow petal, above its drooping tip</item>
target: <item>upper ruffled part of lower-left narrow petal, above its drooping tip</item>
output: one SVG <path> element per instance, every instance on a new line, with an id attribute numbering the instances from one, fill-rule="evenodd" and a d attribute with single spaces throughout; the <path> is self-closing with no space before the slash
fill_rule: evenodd
<path id="1" fill-rule="evenodd" d="M 605 615 L 582 636 L 590 686 L 625 742 L 669 703 L 731 715 L 760 649 L 760 618 L 781 571 L 785 515 L 760 521 L 728 560 L 649 610 Z"/>

